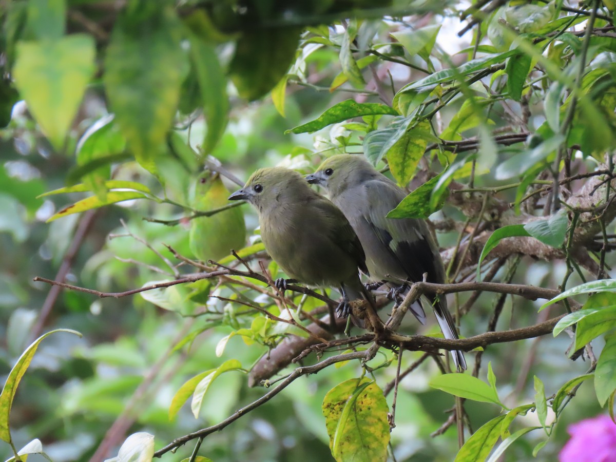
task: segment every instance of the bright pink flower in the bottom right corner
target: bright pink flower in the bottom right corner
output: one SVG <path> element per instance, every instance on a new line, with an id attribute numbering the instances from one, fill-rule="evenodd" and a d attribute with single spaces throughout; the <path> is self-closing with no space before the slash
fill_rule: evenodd
<path id="1" fill-rule="evenodd" d="M 560 462 L 616 462 L 616 424 L 607 415 L 585 419 L 567 428 L 571 439 Z"/>

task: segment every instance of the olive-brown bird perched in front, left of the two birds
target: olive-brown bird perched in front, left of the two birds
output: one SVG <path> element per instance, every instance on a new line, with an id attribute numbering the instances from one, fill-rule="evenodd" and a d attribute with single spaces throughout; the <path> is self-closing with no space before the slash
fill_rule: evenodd
<path id="1" fill-rule="evenodd" d="M 259 169 L 229 200 L 246 200 L 257 209 L 265 249 L 290 277 L 276 281 L 279 289 L 291 282 L 339 288 L 341 317 L 349 315 L 351 300 L 371 303 L 359 277 L 359 269 L 366 270 L 359 238 L 344 214 L 298 172 Z"/>

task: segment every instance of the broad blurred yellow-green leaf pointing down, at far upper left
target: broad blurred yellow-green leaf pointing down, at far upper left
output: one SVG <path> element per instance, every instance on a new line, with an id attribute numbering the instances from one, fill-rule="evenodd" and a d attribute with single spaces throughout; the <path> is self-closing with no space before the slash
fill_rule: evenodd
<path id="1" fill-rule="evenodd" d="M 73 34 L 55 41 L 17 43 L 15 86 L 57 150 L 62 150 L 94 72 L 94 39 Z"/>

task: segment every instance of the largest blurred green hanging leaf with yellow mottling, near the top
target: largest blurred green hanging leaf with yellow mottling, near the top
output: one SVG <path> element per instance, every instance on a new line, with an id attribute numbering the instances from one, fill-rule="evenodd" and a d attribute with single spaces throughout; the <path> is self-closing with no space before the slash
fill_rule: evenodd
<path id="1" fill-rule="evenodd" d="M 103 83 L 111 110 L 137 162 L 153 174 L 188 71 L 183 33 L 171 5 L 131 0 L 107 46 Z"/>

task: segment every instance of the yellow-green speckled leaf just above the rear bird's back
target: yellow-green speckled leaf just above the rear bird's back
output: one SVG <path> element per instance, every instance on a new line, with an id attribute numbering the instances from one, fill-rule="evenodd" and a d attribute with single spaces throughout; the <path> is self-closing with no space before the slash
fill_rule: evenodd
<path id="1" fill-rule="evenodd" d="M 428 140 L 434 139 L 428 121 L 407 130 L 389 150 L 387 163 L 398 184 L 404 187 L 415 174 L 417 164 L 423 157 Z"/>

